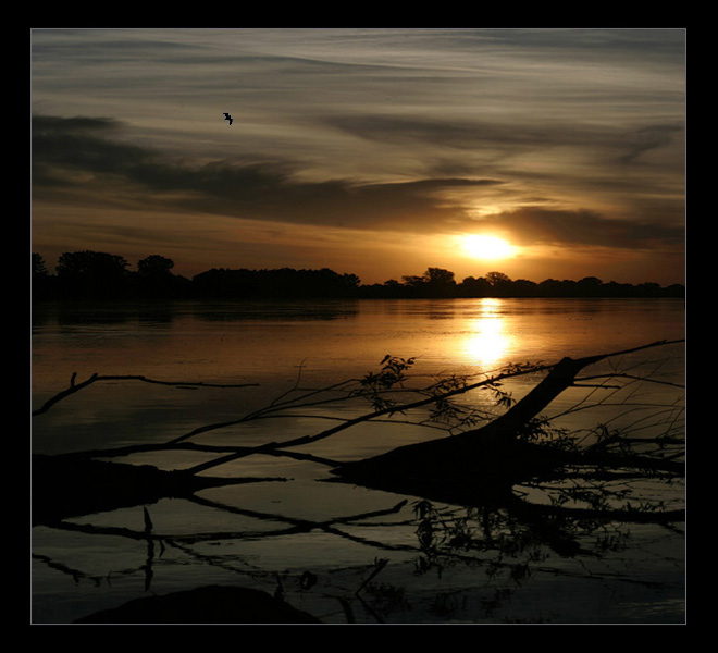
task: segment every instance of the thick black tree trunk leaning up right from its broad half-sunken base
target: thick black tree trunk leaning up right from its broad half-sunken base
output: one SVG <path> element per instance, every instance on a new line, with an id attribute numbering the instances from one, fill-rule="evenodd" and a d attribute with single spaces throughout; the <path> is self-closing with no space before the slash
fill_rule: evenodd
<path id="1" fill-rule="evenodd" d="M 683 464 L 647 456 L 615 456 L 602 451 L 568 452 L 522 438 L 533 420 L 564 391 L 577 383 L 585 367 L 609 356 L 637 352 L 664 343 L 614 354 L 564 358 L 545 379 L 504 415 L 486 426 L 458 435 L 410 444 L 333 470 L 342 480 L 407 492 L 419 496 L 485 505 L 508 498 L 511 488 L 566 465 L 624 467 L 683 475 Z"/>

